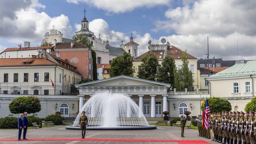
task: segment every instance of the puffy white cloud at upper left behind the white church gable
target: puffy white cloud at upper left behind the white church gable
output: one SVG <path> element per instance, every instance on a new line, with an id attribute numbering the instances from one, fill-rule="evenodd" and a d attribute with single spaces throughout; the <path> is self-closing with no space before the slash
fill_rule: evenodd
<path id="1" fill-rule="evenodd" d="M 45 8 L 37 0 L 26 3 L 28 6 L 15 10 L 14 16 L 3 15 L 0 17 L 0 38 L 13 43 L 30 41 L 31 44 L 40 44 L 44 34 L 52 29 L 62 32 L 63 37 L 70 38 L 72 27 L 67 16 L 61 14 L 50 17 L 45 12 L 39 13 L 37 8 Z M 0 6 L 0 9 L 5 7 Z"/>

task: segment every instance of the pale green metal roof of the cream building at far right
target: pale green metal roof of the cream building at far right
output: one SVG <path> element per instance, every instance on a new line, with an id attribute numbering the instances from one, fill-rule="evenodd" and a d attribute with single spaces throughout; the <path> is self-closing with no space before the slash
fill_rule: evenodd
<path id="1" fill-rule="evenodd" d="M 228 77 L 239 77 L 239 76 L 249 76 L 256 75 L 256 60 L 246 61 L 245 63 L 236 63 L 234 66 L 222 70 L 217 74 L 210 76 L 210 78 L 228 78 Z"/>

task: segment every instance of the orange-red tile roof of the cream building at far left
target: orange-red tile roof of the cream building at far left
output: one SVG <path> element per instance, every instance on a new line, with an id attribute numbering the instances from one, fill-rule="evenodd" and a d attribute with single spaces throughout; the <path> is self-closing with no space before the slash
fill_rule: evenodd
<path id="1" fill-rule="evenodd" d="M 25 64 L 24 62 L 30 62 Z M 45 58 L 0 58 L 0 67 L 3 66 L 55 66 L 54 62 Z"/>

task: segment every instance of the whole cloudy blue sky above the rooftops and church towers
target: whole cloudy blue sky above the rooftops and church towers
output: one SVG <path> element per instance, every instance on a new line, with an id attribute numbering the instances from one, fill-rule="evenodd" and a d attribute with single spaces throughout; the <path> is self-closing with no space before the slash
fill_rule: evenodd
<path id="1" fill-rule="evenodd" d="M 138 55 L 148 41 L 168 39 L 197 58 L 255 60 L 256 1 L 247 0 L 1 0 L 0 51 L 8 47 L 40 45 L 46 32 L 71 38 L 84 17 L 89 30 L 111 46 L 129 42 L 133 33 Z"/>

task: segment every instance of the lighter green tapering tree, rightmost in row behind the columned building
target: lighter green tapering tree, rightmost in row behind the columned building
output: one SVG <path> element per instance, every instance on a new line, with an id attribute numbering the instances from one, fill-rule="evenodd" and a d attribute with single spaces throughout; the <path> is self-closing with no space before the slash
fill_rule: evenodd
<path id="1" fill-rule="evenodd" d="M 193 73 L 189 70 L 187 56 L 188 54 L 185 51 L 185 53 L 182 54 L 182 67 L 174 74 L 174 86 L 177 90 L 194 88 Z"/>

